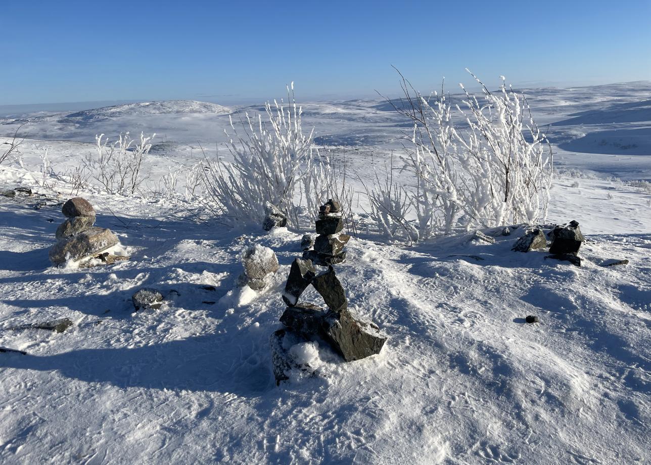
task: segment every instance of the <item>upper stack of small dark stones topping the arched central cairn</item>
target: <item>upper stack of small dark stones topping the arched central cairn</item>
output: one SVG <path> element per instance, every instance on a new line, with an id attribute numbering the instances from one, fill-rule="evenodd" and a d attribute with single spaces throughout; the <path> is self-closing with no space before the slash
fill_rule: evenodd
<path id="1" fill-rule="evenodd" d="M 344 247 L 350 236 L 342 234 L 344 229 L 344 218 L 342 217 L 341 205 L 339 202 L 330 199 L 319 210 L 316 220 L 316 239 L 312 242 L 312 236 L 303 236 L 301 247 L 303 247 L 303 259 L 312 261 L 320 266 L 338 264 L 346 260 Z"/>

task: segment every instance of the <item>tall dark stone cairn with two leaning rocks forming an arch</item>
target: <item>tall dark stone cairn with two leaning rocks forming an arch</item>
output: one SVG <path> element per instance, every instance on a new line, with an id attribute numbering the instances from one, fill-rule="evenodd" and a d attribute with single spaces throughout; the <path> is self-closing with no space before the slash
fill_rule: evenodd
<path id="1" fill-rule="evenodd" d="M 341 206 L 329 200 L 320 208 L 316 221 L 314 250 L 305 251 L 303 259 L 294 259 L 283 293 L 288 305 L 280 318 L 286 329 L 271 336 L 271 359 L 276 384 L 288 380 L 292 369 L 309 370 L 299 365 L 288 351 L 290 346 L 320 338 L 327 341 L 346 360 L 353 361 L 379 354 L 387 336 L 373 322 L 361 320 L 348 309 L 346 292 L 333 264 L 346 259 L 344 246 L 350 239 L 340 234 L 344 228 Z M 327 270 L 318 271 L 316 266 Z M 312 285 L 322 296 L 327 311 L 311 303 L 299 303 L 303 291 Z"/>

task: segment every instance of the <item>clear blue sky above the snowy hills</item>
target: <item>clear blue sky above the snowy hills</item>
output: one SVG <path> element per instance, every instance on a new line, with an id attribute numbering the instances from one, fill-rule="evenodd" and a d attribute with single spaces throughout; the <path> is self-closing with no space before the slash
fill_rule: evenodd
<path id="1" fill-rule="evenodd" d="M 0 105 L 651 79 L 651 0 L 0 2 Z"/>

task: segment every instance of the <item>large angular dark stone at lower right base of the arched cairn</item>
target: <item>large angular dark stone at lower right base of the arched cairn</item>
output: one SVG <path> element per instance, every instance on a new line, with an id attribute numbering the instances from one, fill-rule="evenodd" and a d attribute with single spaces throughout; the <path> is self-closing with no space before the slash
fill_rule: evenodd
<path id="1" fill-rule="evenodd" d="M 387 336 L 380 332 L 378 326 L 358 320 L 347 309 L 339 313 L 327 313 L 324 318 L 324 333 L 346 361 L 379 354 L 387 341 Z"/>

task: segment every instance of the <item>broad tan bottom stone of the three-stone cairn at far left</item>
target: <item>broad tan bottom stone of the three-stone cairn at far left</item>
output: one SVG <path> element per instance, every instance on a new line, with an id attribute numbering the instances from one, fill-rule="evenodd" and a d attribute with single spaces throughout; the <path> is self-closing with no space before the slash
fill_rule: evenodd
<path id="1" fill-rule="evenodd" d="M 79 261 L 118 244 L 118 238 L 109 229 L 91 227 L 74 236 L 62 238 L 49 249 L 49 259 L 55 265 L 68 260 Z"/>

